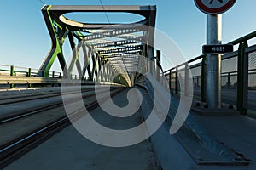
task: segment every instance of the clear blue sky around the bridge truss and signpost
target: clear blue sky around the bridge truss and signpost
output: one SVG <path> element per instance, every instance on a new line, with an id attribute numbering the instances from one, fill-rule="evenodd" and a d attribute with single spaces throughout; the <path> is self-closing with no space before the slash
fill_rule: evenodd
<path id="1" fill-rule="evenodd" d="M 99 0 L 43 0 L 46 4 L 100 5 Z M 157 5 L 157 24 L 181 49 L 186 59 L 201 54 L 206 43 L 206 14 L 194 0 L 102 0 L 105 5 Z M 49 33 L 39 0 L 1 0 L 0 65 L 38 68 L 49 52 Z M 256 31 L 256 1 L 237 0 L 223 14 L 223 42 Z M 109 16 L 110 20 L 113 20 Z M 104 20 L 104 19 L 103 19 Z M 107 20 L 105 18 L 105 20 Z M 255 42 L 255 41 L 254 41 Z"/>

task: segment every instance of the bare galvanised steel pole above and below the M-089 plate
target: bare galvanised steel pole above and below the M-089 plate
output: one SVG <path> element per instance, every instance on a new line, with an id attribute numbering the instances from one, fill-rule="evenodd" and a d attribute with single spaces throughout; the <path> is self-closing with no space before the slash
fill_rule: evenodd
<path id="1" fill-rule="evenodd" d="M 207 45 L 221 44 L 222 14 L 207 14 Z M 207 104 L 221 107 L 221 54 L 207 54 Z"/>

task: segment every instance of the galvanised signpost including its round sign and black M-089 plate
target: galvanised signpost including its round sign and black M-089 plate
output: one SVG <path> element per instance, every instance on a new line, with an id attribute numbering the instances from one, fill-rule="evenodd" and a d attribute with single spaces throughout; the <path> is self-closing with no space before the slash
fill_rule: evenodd
<path id="1" fill-rule="evenodd" d="M 221 54 L 231 51 L 230 45 L 221 44 L 222 13 L 234 3 L 236 0 L 195 0 L 197 8 L 207 14 L 207 46 L 203 52 L 207 54 L 206 99 L 212 109 L 221 107 Z"/>

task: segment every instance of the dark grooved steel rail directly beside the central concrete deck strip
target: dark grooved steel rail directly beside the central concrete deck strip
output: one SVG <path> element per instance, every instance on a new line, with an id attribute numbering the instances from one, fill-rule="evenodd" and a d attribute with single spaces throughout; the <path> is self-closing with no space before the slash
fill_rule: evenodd
<path id="1" fill-rule="evenodd" d="M 119 94 L 123 89 L 124 88 L 113 90 L 111 96 L 113 97 L 114 95 Z M 99 105 L 99 103 L 103 103 L 106 100 L 108 100 L 108 98 L 103 98 L 101 101 L 93 101 L 86 105 L 86 109 L 88 111 L 92 111 Z M 39 127 L 30 133 L 26 133 L 19 139 L 15 139 L 10 141 L 8 144 L 4 144 L 4 146 L 0 146 L 0 169 L 3 169 L 3 167 L 6 167 L 12 161 L 23 156 L 29 150 L 32 150 L 39 144 L 42 144 L 55 133 L 60 132 L 63 128 L 71 124 L 69 119 L 79 119 L 80 116 L 83 116 L 83 113 L 84 109 L 79 109 L 78 111 L 74 111 L 70 116 L 62 116 L 54 122 L 44 125 L 44 127 Z"/>

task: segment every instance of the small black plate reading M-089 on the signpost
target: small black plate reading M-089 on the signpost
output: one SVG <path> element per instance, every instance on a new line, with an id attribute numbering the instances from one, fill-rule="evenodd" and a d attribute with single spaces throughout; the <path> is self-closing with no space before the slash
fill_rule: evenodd
<path id="1" fill-rule="evenodd" d="M 232 44 L 204 45 L 202 47 L 203 54 L 226 54 L 233 52 Z"/>

